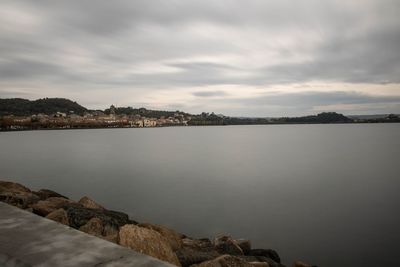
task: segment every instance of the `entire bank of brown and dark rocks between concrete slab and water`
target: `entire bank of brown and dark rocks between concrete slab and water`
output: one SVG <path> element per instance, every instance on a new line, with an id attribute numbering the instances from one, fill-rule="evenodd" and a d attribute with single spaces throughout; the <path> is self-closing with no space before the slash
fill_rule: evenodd
<path id="1" fill-rule="evenodd" d="M 0 181 L 0 201 L 176 266 L 285 267 L 275 250 L 254 249 L 250 240 L 229 235 L 213 240 L 191 238 L 162 225 L 139 223 L 87 196 L 74 201 L 48 189 L 32 191 Z M 301 261 L 292 266 L 312 267 Z"/>

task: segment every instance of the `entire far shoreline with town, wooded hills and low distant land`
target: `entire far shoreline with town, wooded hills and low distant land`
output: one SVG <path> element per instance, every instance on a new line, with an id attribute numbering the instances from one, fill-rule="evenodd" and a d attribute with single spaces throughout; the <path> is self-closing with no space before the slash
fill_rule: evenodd
<path id="1" fill-rule="evenodd" d="M 344 116 L 323 112 L 303 117 L 242 118 L 214 113 L 193 115 L 182 111 L 115 107 L 89 110 L 63 98 L 34 101 L 20 98 L 0 99 L 0 130 L 76 129 L 76 128 L 147 128 L 196 125 L 254 125 L 305 123 L 382 123 L 400 122 L 395 114 Z"/>

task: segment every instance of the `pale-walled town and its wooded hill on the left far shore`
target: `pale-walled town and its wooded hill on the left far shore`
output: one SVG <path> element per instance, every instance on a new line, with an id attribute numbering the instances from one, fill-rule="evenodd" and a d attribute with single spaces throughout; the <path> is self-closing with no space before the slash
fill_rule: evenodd
<path id="1" fill-rule="evenodd" d="M 101 110 L 88 110 L 66 99 L 45 99 L 41 108 L 22 111 L 21 102 L 8 109 L 0 108 L 0 126 L 3 130 L 25 129 L 71 129 L 71 128 L 143 128 L 161 126 L 187 126 L 189 114 L 177 112 L 158 112 L 152 114 L 145 108 L 134 110 L 125 108 L 121 113 L 114 105 Z M 0 102 L 1 104 L 1 102 Z M 55 104 L 55 105 L 54 105 Z M 23 105 L 23 104 L 22 104 Z M 68 110 L 70 108 L 71 110 Z M 36 113 L 35 110 L 41 111 Z M 21 112 L 22 111 L 22 112 Z M 158 115 L 158 116 L 155 116 Z"/>

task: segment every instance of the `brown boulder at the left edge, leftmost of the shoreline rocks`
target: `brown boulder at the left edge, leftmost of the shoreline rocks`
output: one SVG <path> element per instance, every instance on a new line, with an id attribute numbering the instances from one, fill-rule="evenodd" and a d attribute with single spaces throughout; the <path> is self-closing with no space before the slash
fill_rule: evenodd
<path id="1" fill-rule="evenodd" d="M 0 201 L 26 209 L 39 201 L 39 197 L 19 183 L 0 181 Z"/>

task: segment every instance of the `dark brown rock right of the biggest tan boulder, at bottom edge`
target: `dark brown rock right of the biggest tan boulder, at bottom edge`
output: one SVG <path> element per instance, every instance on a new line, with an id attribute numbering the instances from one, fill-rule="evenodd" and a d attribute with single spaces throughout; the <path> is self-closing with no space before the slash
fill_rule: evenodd
<path id="1" fill-rule="evenodd" d="M 221 256 L 216 250 L 196 250 L 189 247 L 183 247 L 175 253 L 183 267 L 209 261 Z"/>

